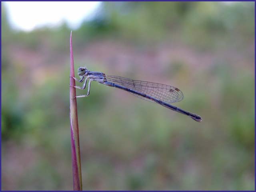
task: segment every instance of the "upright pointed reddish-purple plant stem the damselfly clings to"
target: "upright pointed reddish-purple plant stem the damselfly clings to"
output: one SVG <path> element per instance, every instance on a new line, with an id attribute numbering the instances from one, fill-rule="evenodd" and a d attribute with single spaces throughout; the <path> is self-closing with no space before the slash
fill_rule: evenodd
<path id="1" fill-rule="evenodd" d="M 74 77 L 74 58 L 72 48 L 72 31 L 70 34 L 70 77 Z M 71 131 L 71 152 L 72 152 L 72 168 L 73 168 L 73 189 L 82 190 L 82 171 L 80 160 L 78 115 L 76 104 L 76 88 L 75 80 L 70 78 L 70 131 Z"/>

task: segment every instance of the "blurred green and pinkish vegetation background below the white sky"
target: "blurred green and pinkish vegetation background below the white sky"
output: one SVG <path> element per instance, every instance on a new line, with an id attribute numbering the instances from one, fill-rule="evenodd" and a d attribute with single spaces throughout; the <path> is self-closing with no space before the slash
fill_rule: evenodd
<path id="1" fill-rule="evenodd" d="M 72 190 L 71 29 L 14 31 L 1 11 L 2 190 Z M 78 99 L 84 190 L 254 190 L 254 11 L 105 2 L 73 30 L 75 68 L 176 86 L 174 105 L 203 118 L 92 82 Z"/>

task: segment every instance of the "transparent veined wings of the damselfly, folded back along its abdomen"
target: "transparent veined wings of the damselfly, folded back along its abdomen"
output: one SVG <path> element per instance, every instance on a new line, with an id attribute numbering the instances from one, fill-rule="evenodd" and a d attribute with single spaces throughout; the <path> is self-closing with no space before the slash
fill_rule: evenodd
<path id="1" fill-rule="evenodd" d="M 132 90 L 144 93 L 148 96 L 154 97 L 158 100 L 164 101 L 169 104 L 179 102 L 183 99 L 183 93 L 178 88 L 169 85 L 152 83 L 147 81 L 132 80 L 124 77 L 110 75 L 106 75 L 106 80 L 108 82 L 119 84 Z M 131 94 L 144 100 L 154 102 L 138 94 Z"/>

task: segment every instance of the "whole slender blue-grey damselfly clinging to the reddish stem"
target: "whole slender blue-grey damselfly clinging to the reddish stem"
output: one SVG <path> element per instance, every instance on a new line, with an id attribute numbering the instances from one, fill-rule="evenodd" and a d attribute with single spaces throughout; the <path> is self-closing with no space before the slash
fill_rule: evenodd
<path id="1" fill-rule="evenodd" d="M 202 121 L 202 118 L 199 115 L 171 105 L 171 103 L 180 102 L 181 100 L 183 100 L 183 93 L 181 92 L 181 90 L 174 86 L 147 81 L 132 80 L 120 76 L 106 75 L 103 72 L 89 71 L 85 67 L 78 68 L 78 76 L 80 77 L 80 79 L 77 79 L 76 77 L 71 78 L 80 83 L 84 81 L 84 84 L 82 87 L 74 86 L 74 88 L 84 90 L 88 82 L 88 90 L 87 94 L 76 96 L 76 98 L 89 96 L 91 81 L 96 81 L 100 84 L 127 91 L 138 98 L 160 104 L 170 110 L 174 110 L 181 114 L 187 115 L 197 122 Z"/>

